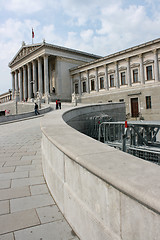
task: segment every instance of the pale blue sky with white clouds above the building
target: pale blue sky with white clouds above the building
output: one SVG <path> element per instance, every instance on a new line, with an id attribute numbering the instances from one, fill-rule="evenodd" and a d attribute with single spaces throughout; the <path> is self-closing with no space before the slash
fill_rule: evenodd
<path id="1" fill-rule="evenodd" d="M 0 93 L 22 41 L 107 56 L 160 37 L 159 0 L 0 0 Z"/>

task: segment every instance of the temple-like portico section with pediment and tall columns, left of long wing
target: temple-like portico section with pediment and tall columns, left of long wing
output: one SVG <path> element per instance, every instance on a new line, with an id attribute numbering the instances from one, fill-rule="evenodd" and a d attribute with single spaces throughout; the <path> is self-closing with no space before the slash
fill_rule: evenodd
<path id="1" fill-rule="evenodd" d="M 22 47 L 9 63 L 12 74 L 12 97 L 30 101 L 37 94 L 46 100 L 71 100 L 69 69 L 100 58 L 99 56 L 47 44 Z"/>

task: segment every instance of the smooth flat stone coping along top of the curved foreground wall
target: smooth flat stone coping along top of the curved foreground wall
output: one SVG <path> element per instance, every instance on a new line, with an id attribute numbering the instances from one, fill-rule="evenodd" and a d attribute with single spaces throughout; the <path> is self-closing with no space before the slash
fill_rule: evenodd
<path id="1" fill-rule="evenodd" d="M 82 112 L 82 109 L 75 107 L 48 113 L 41 121 L 43 134 L 89 172 L 160 213 L 160 167 L 98 142 L 64 122 L 66 114 L 74 110 Z"/>

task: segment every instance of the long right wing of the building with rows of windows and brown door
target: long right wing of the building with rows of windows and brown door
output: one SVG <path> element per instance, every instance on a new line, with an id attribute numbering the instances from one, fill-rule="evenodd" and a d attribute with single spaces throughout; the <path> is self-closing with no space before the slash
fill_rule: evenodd
<path id="1" fill-rule="evenodd" d="M 160 120 L 160 39 L 70 70 L 82 103 L 125 102 L 128 118 Z"/>

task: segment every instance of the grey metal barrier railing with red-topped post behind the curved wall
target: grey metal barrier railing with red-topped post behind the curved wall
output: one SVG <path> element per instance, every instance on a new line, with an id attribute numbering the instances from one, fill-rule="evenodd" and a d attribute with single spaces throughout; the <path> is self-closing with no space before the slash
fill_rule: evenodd
<path id="1" fill-rule="evenodd" d="M 158 122 L 102 122 L 98 140 L 139 158 L 160 164 Z"/>

